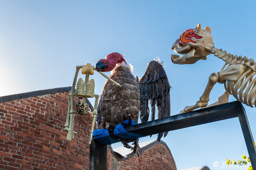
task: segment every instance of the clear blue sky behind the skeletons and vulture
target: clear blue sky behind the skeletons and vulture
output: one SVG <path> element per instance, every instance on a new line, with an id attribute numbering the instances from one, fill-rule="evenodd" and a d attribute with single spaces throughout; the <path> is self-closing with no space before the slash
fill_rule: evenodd
<path id="1" fill-rule="evenodd" d="M 172 86 L 171 114 L 177 114 L 195 104 L 209 75 L 224 63 L 210 55 L 194 65 L 174 65 L 172 43 L 182 31 L 201 23 L 211 27 L 215 47 L 255 59 L 255 7 L 255 1 L 2 0 L 0 96 L 71 86 L 77 65 L 95 64 L 110 52 L 120 52 L 139 77 L 148 61 L 157 56 L 164 61 Z M 100 94 L 106 79 L 99 74 L 93 79 Z M 216 84 L 209 103 L 223 92 L 223 84 Z M 244 107 L 255 135 L 256 110 Z M 236 118 L 169 132 L 163 141 L 178 169 L 221 169 L 227 158 L 248 155 Z M 220 166 L 214 168 L 216 161 Z"/>

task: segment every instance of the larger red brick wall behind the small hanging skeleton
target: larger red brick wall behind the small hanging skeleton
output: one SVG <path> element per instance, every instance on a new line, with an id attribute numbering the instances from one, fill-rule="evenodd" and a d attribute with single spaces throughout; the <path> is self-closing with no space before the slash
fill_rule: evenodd
<path id="1" fill-rule="evenodd" d="M 0 169 L 89 169 L 91 114 L 76 114 L 72 143 L 63 131 L 68 93 L 0 103 Z"/>

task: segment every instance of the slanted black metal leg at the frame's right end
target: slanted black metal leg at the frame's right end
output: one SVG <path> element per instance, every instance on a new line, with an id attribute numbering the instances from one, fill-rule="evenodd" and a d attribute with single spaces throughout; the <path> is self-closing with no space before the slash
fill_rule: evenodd
<path id="1" fill-rule="evenodd" d="M 240 125 L 243 131 L 243 135 L 244 135 L 244 141 L 246 143 L 246 147 L 250 156 L 250 160 L 252 162 L 252 168 L 256 169 L 256 147 L 254 144 L 254 140 L 253 140 L 253 136 L 252 136 L 252 132 L 251 132 L 251 128 L 246 116 L 246 112 L 244 111 L 243 108 L 243 112 L 239 112 L 238 113 L 238 118 L 240 121 Z"/>

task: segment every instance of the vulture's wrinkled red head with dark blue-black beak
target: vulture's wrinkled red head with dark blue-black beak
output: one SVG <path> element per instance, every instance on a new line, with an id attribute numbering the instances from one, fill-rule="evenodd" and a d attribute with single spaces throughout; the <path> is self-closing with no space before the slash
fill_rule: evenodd
<path id="1" fill-rule="evenodd" d="M 100 59 L 96 63 L 96 69 L 98 72 L 110 72 L 112 71 L 116 64 L 125 62 L 124 56 L 122 54 L 119 54 L 118 52 L 110 53 L 106 56 L 106 59 Z"/>

